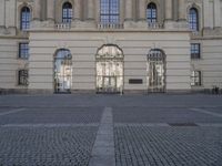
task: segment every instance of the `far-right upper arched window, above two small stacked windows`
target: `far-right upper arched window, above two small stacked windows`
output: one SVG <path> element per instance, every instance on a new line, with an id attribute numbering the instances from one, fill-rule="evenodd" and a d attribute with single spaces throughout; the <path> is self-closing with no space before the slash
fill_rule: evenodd
<path id="1" fill-rule="evenodd" d="M 192 31 L 199 30 L 199 15 L 198 15 L 198 10 L 195 8 L 191 8 L 189 11 L 189 24 L 190 24 L 190 30 Z"/>

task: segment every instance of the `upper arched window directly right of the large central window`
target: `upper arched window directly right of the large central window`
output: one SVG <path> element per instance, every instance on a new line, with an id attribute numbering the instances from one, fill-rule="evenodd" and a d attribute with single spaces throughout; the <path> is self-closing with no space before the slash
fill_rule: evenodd
<path id="1" fill-rule="evenodd" d="M 149 23 L 155 23 L 157 22 L 157 18 L 158 18 L 158 13 L 157 13 L 158 9 L 155 3 L 149 3 L 148 8 L 147 8 L 147 19 Z"/>

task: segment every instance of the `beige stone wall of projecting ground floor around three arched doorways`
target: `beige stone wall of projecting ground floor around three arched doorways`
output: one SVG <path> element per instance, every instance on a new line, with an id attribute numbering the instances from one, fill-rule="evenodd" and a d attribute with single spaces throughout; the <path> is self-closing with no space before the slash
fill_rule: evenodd
<path id="1" fill-rule="evenodd" d="M 117 44 L 123 50 L 124 90 L 148 89 L 147 54 L 153 48 L 160 48 L 167 54 L 167 89 L 190 89 L 189 33 L 183 32 L 31 33 L 29 89 L 53 91 L 53 55 L 58 49 L 65 48 L 73 56 L 72 90 L 94 91 L 97 50 L 107 43 Z M 143 84 L 129 84 L 129 79 L 142 79 Z"/>

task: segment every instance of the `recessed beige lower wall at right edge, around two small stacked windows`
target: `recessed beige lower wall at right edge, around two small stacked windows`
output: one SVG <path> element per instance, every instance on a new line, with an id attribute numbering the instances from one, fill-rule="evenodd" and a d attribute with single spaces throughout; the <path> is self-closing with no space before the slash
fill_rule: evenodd
<path id="1" fill-rule="evenodd" d="M 201 87 L 194 89 L 212 89 L 216 85 L 222 89 L 222 39 L 194 40 L 202 45 L 201 60 L 192 60 L 192 69 L 202 71 Z"/>

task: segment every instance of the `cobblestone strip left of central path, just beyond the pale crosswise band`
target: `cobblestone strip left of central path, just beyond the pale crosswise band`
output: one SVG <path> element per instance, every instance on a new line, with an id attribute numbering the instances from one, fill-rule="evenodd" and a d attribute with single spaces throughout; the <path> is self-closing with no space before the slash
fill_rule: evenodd
<path id="1" fill-rule="evenodd" d="M 27 107 L 17 114 L 0 116 L 0 124 L 99 123 L 102 107 Z"/>

